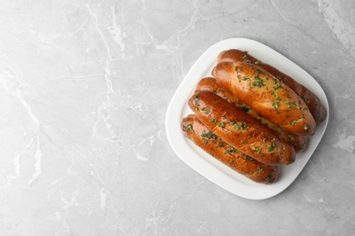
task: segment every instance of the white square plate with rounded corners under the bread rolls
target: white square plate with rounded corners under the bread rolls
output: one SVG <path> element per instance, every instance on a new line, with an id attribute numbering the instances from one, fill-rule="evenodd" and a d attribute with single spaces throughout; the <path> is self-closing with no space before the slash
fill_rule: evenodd
<path id="1" fill-rule="evenodd" d="M 199 80 L 210 76 L 213 67 L 217 64 L 217 56 L 221 51 L 232 48 L 246 50 L 260 61 L 272 64 L 283 73 L 289 74 L 300 84 L 305 85 L 315 93 L 329 113 L 328 100 L 320 84 L 299 65 L 294 64 L 265 44 L 246 38 L 231 38 L 220 41 L 208 48 L 198 58 L 198 61 L 191 67 L 185 79 L 178 86 L 167 108 L 167 139 L 174 152 L 177 153 L 183 162 L 186 162 L 188 166 L 211 182 L 243 198 L 252 200 L 267 199 L 284 191 L 297 178 L 299 172 L 302 171 L 320 143 L 320 139 L 327 128 L 329 115 L 327 115 L 324 122 L 318 125 L 316 133 L 308 138 L 307 148 L 297 154 L 296 162 L 288 166 L 281 166 L 279 181 L 270 185 L 252 182 L 202 151 L 184 136 L 180 129 L 180 123 L 182 118 L 187 116 L 188 113 L 193 113 L 188 107 L 188 99 L 194 93 Z"/>

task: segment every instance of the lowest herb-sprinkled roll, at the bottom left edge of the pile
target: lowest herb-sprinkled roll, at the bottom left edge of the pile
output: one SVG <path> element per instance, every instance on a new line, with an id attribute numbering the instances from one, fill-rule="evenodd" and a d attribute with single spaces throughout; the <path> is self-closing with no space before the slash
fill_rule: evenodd
<path id="1" fill-rule="evenodd" d="M 189 114 L 181 122 L 181 129 L 193 143 L 234 171 L 254 182 L 271 183 L 279 178 L 279 167 L 258 162 L 228 145 L 201 123 L 197 116 Z"/>

